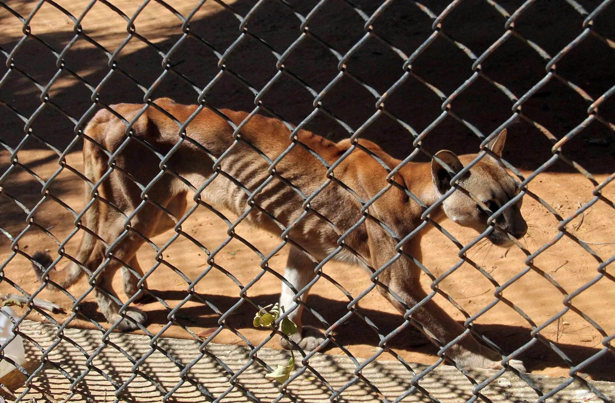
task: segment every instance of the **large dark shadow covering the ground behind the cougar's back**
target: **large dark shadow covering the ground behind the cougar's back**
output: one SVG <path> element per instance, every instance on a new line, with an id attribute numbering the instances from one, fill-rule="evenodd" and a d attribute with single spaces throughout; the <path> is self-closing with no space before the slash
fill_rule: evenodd
<path id="1" fill-rule="evenodd" d="M 315 2 L 295 0 L 290 4 L 299 12 L 307 13 Z M 252 6 L 253 2 L 248 0 L 239 0 L 232 4 L 232 7 L 242 15 L 245 15 Z M 378 4 L 364 0 L 359 2 L 359 6 L 369 15 Z M 161 12 L 164 10 L 161 6 L 157 7 L 161 9 Z M 441 11 L 438 7 L 434 7 L 434 12 Z M 509 6 L 510 9 L 513 7 Z M 599 21 L 608 21 L 614 13 L 614 8 L 609 7 L 604 15 L 601 15 Z M 522 18 L 523 24 L 518 29 L 531 39 L 539 36 L 539 45 L 546 48 L 548 52 L 557 53 L 577 35 L 577 31 L 580 31 L 579 18 L 581 16 L 569 12 L 571 7 L 567 4 L 547 7 L 547 9 L 542 10 L 544 13 L 525 13 Z M 91 12 L 100 13 L 101 9 Z M 165 12 L 169 13 L 168 10 Z M 119 18 L 113 12 L 109 11 L 109 13 L 114 18 Z M 556 15 L 557 18 L 555 18 Z M 227 10 L 212 15 L 197 13 L 197 16 L 200 17 L 194 17 L 190 21 L 191 34 L 208 41 L 220 52 L 228 48 L 239 36 L 238 21 Z M 6 16 L 3 17 L 9 23 Z M 541 29 L 545 20 L 549 21 L 548 32 Z M 12 24 L 18 23 L 16 18 L 10 21 Z M 92 36 L 95 34 L 100 36 L 100 32 L 88 31 L 87 21 L 86 18 L 84 32 Z M 113 21 L 116 20 L 113 19 Z M 136 21 L 137 32 L 139 32 L 138 27 L 141 21 L 139 19 Z M 444 30 L 451 37 L 462 38 L 462 42 L 467 47 L 480 55 L 502 34 L 503 21 L 501 15 L 493 12 L 492 7 L 483 5 L 482 2 L 471 1 L 456 7 L 454 12 L 446 17 Z M 431 24 L 432 21 L 418 7 L 400 2 L 400 4 L 387 8 L 376 19 L 373 29 L 379 36 L 389 40 L 410 55 L 432 33 Z M 300 37 L 299 25 L 300 21 L 287 7 L 276 2 L 264 2 L 250 19 L 248 31 L 267 42 L 276 52 L 282 53 L 296 38 Z M 176 19 L 175 23 L 167 23 L 157 31 L 156 37 L 148 37 L 148 39 L 152 40 L 162 52 L 169 52 L 180 39 L 180 26 L 181 21 Z M 608 24 L 599 26 L 600 29 L 606 30 L 607 34 L 613 31 Z M 363 20 L 343 2 L 330 2 L 323 6 L 319 12 L 315 13 L 309 27 L 311 33 L 327 41 L 341 54 L 346 53 L 365 34 Z M 63 31 L 41 34 L 40 37 L 59 51 L 72 39 L 71 28 L 67 26 Z M 16 44 L 15 40 L 9 42 L 0 40 L 0 42 L 2 42 L 2 48 L 7 50 L 11 50 Z M 133 38 L 131 42 L 138 43 L 139 40 Z M 79 41 L 78 43 L 81 44 Z M 610 68 L 614 55 L 611 54 L 612 52 L 606 52 L 608 49 L 605 46 L 598 40 L 585 41 L 569 52 L 557 66 L 562 77 L 581 85 L 594 99 L 608 90 L 615 82 L 615 73 Z M 110 50 L 113 51 L 113 49 Z M 523 64 L 511 63 L 511 59 L 523 60 Z M 161 61 L 162 56 L 153 48 L 138 46 L 136 50 L 120 52 L 117 57 L 117 66 L 148 88 L 164 72 Z M 253 88 L 260 91 L 276 74 L 276 61 L 276 57 L 268 47 L 250 35 L 245 36 L 244 40 L 225 59 L 224 70 L 226 72 L 207 93 L 208 104 L 215 107 L 252 110 L 254 94 L 244 83 L 234 79 L 229 71 L 236 72 Z M 108 59 L 93 45 L 74 46 L 66 53 L 65 63 L 71 70 L 79 72 L 92 86 L 96 86 L 109 73 Z M 174 49 L 169 63 L 173 69 L 188 77 L 199 89 L 204 88 L 220 72 L 216 66 L 218 58 L 212 50 L 193 37 L 188 37 Z M 376 39 L 369 39 L 346 61 L 345 71 L 358 77 L 379 93 L 383 93 L 402 76 L 402 63 L 402 59 L 392 52 L 391 48 Z M 438 38 L 416 59 L 412 71 L 413 74 L 423 77 L 448 95 L 470 76 L 471 63 L 472 60 L 461 50 L 445 39 Z M 15 64 L 34 79 L 39 80 L 42 85 L 49 82 L 49 79 L 58 71 L 55 56 L 35 40 L 26 40 L 21 45 L 15 53 Z M 284 71 L 297 75 L 318 92 L 336 77 L 337 64 L 338 59 L 327 48 L 313 37 L 307 36 L 285 59 Z M 541 61 L 534 50 L 517 39 L 507 41 L 481 66 L 482 74 L 506 85 L 517 97 L 544 77 L 544 61 Z M 0 68 L 6 71 L 6 67 Z M 68 73 L 62 73 L 60 77 L 64 81 L 58 80 L 57 84 L 50 87 L 50 100 L 79 119 L 92 104 L 91 91 L 76 79 L 71 78 Z M 170 96 L 178 102 L 194 103 L 197 93 L 185 80 L 171 71 L 153 91 L 153 98 L 159 96 Z M 15 72 L 12 73 L 10 80 L 0 88 L 0 99 L 22 110 L 26 116 L 30 116 L 40 106 L 39 98 L 40 91 L 29 80 L 20 77 Z M 106 104 L 142 102 L 143 91 L 116 71 L 102 86 L 100 101 Z M 287 74 L 282 74 L 261 98 L 264 106 L 276 111 L 295 125 L 314 110 L 313 101 L 314 96 Z M 369 91 L 346 75 L 327 92 L 322 99 L 322 106 L 335 113 L 351 128 L 358 129 L 375 112 L 375 101 L 376 98 Z M 611 120 L 613 116 L 611 114 L 614 111 L 612 103 L 607 102 L 605 106 L 601 106 L 604 109 L 601 113 L 607 120 Z M 433 91 L 419 83 L 414 77 L 410 77 L 387 98 L 386 109 L 406 121 L 417 132 L 421 132 L 442 113 L 441 104 L 442 99 L 438 98 Z M 512 101 L 506 98 L 501 91 L 486 80 L 479 78 L 455 99 L 452 110 L 483 133 L 489 134 L 510 117 L 511 106 Z M 555 79 L 523 104 L 524 115 L 545 126 L 558 139 L 587 118 L 586 109 L 587 103 L 581 97 L 576 96 L 569 88 Z M 16 144 L 23 137 L 23 122 L 16 121 L 14 115 L 11 116 L 12 113 L 8 110 L 2 110 L 0 113 L 2 113 L 0 118 L 6 122 L 7 126 L 3 139 L 6 139 L 5 141 L 9 144 Z M 73 123 L 50 106 L 47 106 L 36 117 L 32 128 L 34 132 L 38 132 L 41 137 L 61 150 L 74 137 Z M 322 113 L 309 123 L 308 129 L 328 135 L 333 139 L 349 136 L 349 133 L 338 123 L 325 117 Z M 509 133 L 505 157 L 515 166 L 535 169 L 552 156 L 550 152 L 552 143 L 528 123 L 520 121 L 512 125 Z M 609 139 L 611 135 L 610 129 L 605 125 L 592 123 L 590 129 L 582 131 L 563 147 L 563 153 L 589 169 L 590 172 L 611 173 L 615 159 L 609 156 L 615 153 L 615 142 L 591 145 L 596 143 L 588 144 L 585 141 L 597 137 Z M 384 150 L 398 158 L 404 158 L 413 150 L 413 138 L 410 133 L 384 115 L 368 126 L 362 133 L 362 137 L 375 140 Z M 440 148 L 449 148 L 454 152 L 469 153 L 477 151 L 479 143 L 478 138 L 469 128 L 447 117 L 430 132 L 423 141 L 423 147 L 431 152 Z M 31 141 L 28 142 L 28 147 L 44 146 Z M 527 150 L 532 150 L 532 152 L 528 153 Z M 423 157 L 419 156 L 419 159 L 421 158 Z M 556 163 L 550 169 L 576 172 L 573 167 L 565 163 Z"/>

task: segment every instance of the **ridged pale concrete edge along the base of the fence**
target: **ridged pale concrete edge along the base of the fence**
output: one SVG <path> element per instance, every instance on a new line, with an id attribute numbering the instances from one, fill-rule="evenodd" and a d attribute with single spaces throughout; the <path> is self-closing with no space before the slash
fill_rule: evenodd
<path id="1" fill-rule="evenodd" d="M 39 323 L 34 321 L 23 321 L 20 324 L 20 331 L 25 334 L 27 337 L 30 337 L 32 340 L 40 344 L 41 346 L 48 347 L 51 342 L 53 342 L 56 338 L 57 328 L 49 323 Z M 81 345 L 85 348 L 86 351 L 90 353 L 95 350 L 98 345 L 101 344 L 101 336 L 102 333 L 96 330 L 84 330 L 84 329 L 65 329 L 63 331 L 63 336 L 68 339 L 74 340 L 77 344 Z M 135 334 L 121 334 L 121 333 L 113 333 L 109 336 L 109 341 L 113 342 L 116 345 L 130 345 L 132 347 L 137 347 L 140 350 L 134 350 L 135 356 L 146 353 L 150 350 L 150 337 L 135 335 Z M 65 353 L 66 350 L 70 348 L 69 344 L 66 342 L 62 342 L 58 344 L 57 347 L 54 348 L 55 353 L 64 354 L 64 356 L 54 357 L 53 353 L 49 356 L 49 359 L 54 361 L 58 359 L 58 362 L 66 364 L 78 366 L 81 363 L 81 360 L 85 362 L 85 356 L 81 355 L 70 355 Z M 26 345 L 30 345 L 30 347 L 26 347 L 26 351 L 28 354 L 29 363 L 26 365 L 26 369 L 28 372 L 32 372 L 34 369 L 40 366 L 40 356 L 41 351 L 38 348 L 33 348 L 34 345 L 27 341 Z M 168 351 L 173 356 L 182 357 L 185 359 L 183 361 L 190 361 L 192 359 L 191 356 L 186 356 L 186 354 L 192 352 L 198 353 L 198 347 L 200 345 L 196 340 L 189 339 L 169 339 L 169 338 L 161 338 L 158 339 L 156 344 L 164 348 L 165 351 Z M 58 351 L 56 351 L 58 350 Z M 105 348 L 104 350 L 105 357 L 109 361 L 114 360 L 126 360 L 125 356 L 122 353 L 114 348 Z M 229 367 L 232 370 L 238 370 L 242 367 L 245 362 L 248 360 L 248 353 L 250 350 L 242 345 L 221 345 L 221 344 L 213 344 L 210 343 L 207 345 L 208 353 L 215 355 L 216 357 L 222 359 L 226 363 L 229 363 Z M 169 378 L 173 377 L 173 373 L 168 369 L 165 369 L 164 360 L 168 360 L 167 357 L 162 355 L 162 358 L 157 358 L 159 361 L 156 361 L 156 367 L 159 367 L 159 373 L 152 373 L 154 378 Z M 288 360 L 287 351 L 279 351 L 273 350 L 271 348 L 261 348 L 258 351 L 258 357 L 269 364 L 271 367 L 275 367 L 276 364 L 282 364 Z M 153 358 L 154 360 L 154 358 Z M 161 361 L 162 360 L 162 361 Z M 299 356 L 296 356 L 295 361 L 301 361 Z M 362 363 L 365 361 L 364 359 L 359 359 L 359 362 Z M 220 393 L 223 393 L 224 388 L 226 388 L 229 384 L 222 382 L 222 385 L 216 386 L 213 382 L 214 379 L 222 381 L 228 379 L 228 372 L 225 374 L 223 370 L 220 370 L 220 367 L 215 367 L 210 365 L 213 361 L 207 361 L 207 359 L 203 359 L 197 366 L 194 368 L 198 370 L 196 372 L 206 372 L 205 375 L 196 375 L 197 382 L 202 382 L 202 384 L 213 393 L 216 393 L 215 396 L 219 396 Z M 96 363 L 94 363 L 96 364 Z M 200 366 L 199 366 L 200 365 Z M 410 364 L 412 369 L 416 374 L 426 369 L 428 366 L 424 364 Z M 346 356 L 340 355 L 328 355 L 326 353 L 316 353 L 309 360 L 309 367 L 311 369 L 318 371 L 323 374 L 323 377 L 327 378 L 328 383 L 334 390 L 339 390 L 344 385 L 347 384 L 348 380 L 354 378 L 354 369 L 356 368 L 355 363 L 352 359 Z M 297 370 L 300 368 L 297 367 Z M 121 370 L 120 370 L 121 371 Z M 50 374 L 51 372 L 45 371 L 46 374 Z M 132 372 L 124 371 L 127 374 L 132 374 Z M 271 382 L 263 382 L 264 380 L 264 369 L 259 367 L 258 369 L 252 370 L 251 377 L 239 377 L 239 381 L 242 382 L 242 386 L 247 388 L 248 390 L 255 393 L 255 396 L 259 399 L 263 399 L 263 401 L 271 401 L 276 394 L 279 394 L 279 387 L 274 385 Z M 484 382 L 486 379 L 492 377 L 496 374 L 495 370 L 486 370 L 486 369 L 472 369 L 469 370 L 469 374 L 472 378 L 477 380 L 480 384 Z M 59 372 L 58 372 L 59 374 Z M 245 372 L 247 374 L 247 372 Z M 383 375 L 384 374 L 384 375 Z M 42 376 L 41 376 L 42 375 Z M 45 380 L 42 380 L 42 377 L 46 376 L 45 374 L 41 374 L 38 377 L 34 378 L 33 382 L 30 384 L 32 390 L 28 392 L 24 396 L 23 401 L 62 401 L 68 396 L 68 390 L 71 382 L 68 379 L 63 377 L 55 377 L 55 381 L 57 384 L 54 384 L 53 390 L 47 388 L 47 390 L 43 387 L 40 387 L 38 383 L 46 383 Z M 124 373 L 117 375 L 117 377 L 121 378 Z M 411 378 L 413 375 L 408 369 L 403 366 L 399 361 L 381 361 L 376 360 L 373 363 L 370 363 L 365 369 L 361 372 L 362 377 L 370 380 L 373 385 L 378 388 L 379 393 L 383 396 L 386 396 L 387 399 L 392 397 L 391 400 L 394 400 L 397 396 L 400 396 L 403 393 L 408 393 L 411 390 Z M 224 378 L 226 376 L 226 378 Z M 562 385 L 568 378 L 559 377 L 547 377 L 543 375 L 533 375 L 527 374 L 527 377 L 538 386 L 539 390 L 547 393 L 550 390 L 553 390 L 558 385 Z M 175 380 L 177 378 L 177 380 Z M 181 380 L 180 377 L 175 376 L 173 381 L 170 382 L 169 385 L 173 385 L 173 383 L 177 383 Z M 302 374 L 301 377 L 298 377 L 295 381 L 293 381 L 288 386 L 288 391 L 300 398 L 300 400 L 305 402 L 327 402 L 330 398 L 330 390 L 326 388 L 319 391 L 314 391 L 314 388 L 306 388 L 306 381 L 310 384 L 310 386 L 319 380 L 314 380 L 314 376 L 310 372 L 306 370 L 306 374 Z M 23 374 L 14 370 L 12 374 L 7 375 L 2 378 L 0 382 L 2 383 L 2 395 L 9 401 L 15 399 L 20 393 L 25 390 L 23 388 L 23 382 L 25 382 L 25 377 Z M 331 379 L 331 380 L 330 380 Z M 102 382 L 101 382 L 102 381 Z M 119 379 L 121 382 L 122 379 Z M 258 381 L 258 382 L 257 382 Z M 64 385 L 62 385 L 62 382 Z M 133 381 L 135 384 L 138 382 Z M 611 382 L 601 382 L 601 381 L 590 381 L 592 385 L 597 387 L 605 396 L 609 399 L 615 397 L 615 383 Z M 69 401 L 71 402 L 85 402 L 92 401 L 92 397 L 98 401 L 109 401 L 107 399 L 108 394 L 110 392 L 111 397 L 113 397 L 114 388 L 106 381 L 104 378 L 102 380 L 90 380 L 87 382 L 87 385 L 103 385 L 99 389 L 101 396 L 96 396 L 96 390 L 93 391 L 93 395 L 88 391 L 90 397 L 82 398 L 82 395 L 76 394 L 71 397 Z M 104 384 L 107 385 L 104 385 Z M 361 383 L 361 382 L 358 382 Z M 454 367 L 450 366 L 438 366 L 432 369 L 429 373 L 425 375 L 423 380 L 419 382 L 424 390 L 427 390 L 432 397 L 435 397 L 440 402 L 459 402 L 465 401 L 468 397 L 472 397 L 472 390 L 476 385 L 472 385 L 467 378 L 465 378 L 461 372 L 459 372 Z M 135 386 L 135 389 L 137 386 Z M 96 388 L 90 388 L 96 389 Z M 170 389 L 170 388 L 167 388 Z M 454 391 L 454 393 L 452 393 Z M 237 392 L 238 393 L 238 392 Z M 502 377 L 497 380 L 493 380 L 489 385 L 486 385 L 480 393 L 484 396 L 491 399 L 493 402 L 529 402 L 538 400 L 539 395 L 536 391 L 532 390 L 528 384 L 519 378 L 517 375 L 512 372 L 506 372 Z M 419 392 L 415 393 L 416 396 L 412 396 L 412 393 L 408 393 L 408 397 L 404 401 L 425 401 L 425 394 L 421 394 Z M 104 395 L 104 396 L 103 396 Z M 192 396 L 192 395 L 191 395 Z M 194 400 L 198 397 L 198 394 L 195 394 L 192 397 L 186 395 L 185 401 L 196 401 Z M 234 397 L 233 397 L 234 396 Z M 370 397 L 371 396 L 371 397 Z M 201 396 L 202 397 L 202 396 Z M 237 395 L 229 395 L 229 400 L 226 401 L 244 401 L 241 394 Z M 415 398 L 416 397 L 416 398 Z M 159 392 L 154 391 L 153 393 L 148 394 L 137 394 L 133 396 L 133 401 L 160 401 L 161 394 Z M 583 400 L 585 399 L 585 400 Z M 124 400 L 124 399 L 122 399 Z M 126 399 L 126 401 L 130 401 L 131 399 Z M 177 400 L 177 399 L 176 399 Z M 111 399 L 113 401 L 113 399 Z M 177 401 L 183 401 L 181 398 Z M 341 399 L 339 401 L 381 401 L 381 397 L 378 394 L 373 394 L 370 391 L 370 388 L 367 387 L 367 383 L 363 383 L 363 386 L 354 385 L 351 388 L 348 388 L 341 395 Z M 587 387 L 582 385 L 581 382 L 575 380 L 570 385 L 566 386 L 563 390 L 559 391 L 555 394 L 549 402 L 601 402 L 601 399 L 593 400 L 591 394 L 587 393 Z"/>

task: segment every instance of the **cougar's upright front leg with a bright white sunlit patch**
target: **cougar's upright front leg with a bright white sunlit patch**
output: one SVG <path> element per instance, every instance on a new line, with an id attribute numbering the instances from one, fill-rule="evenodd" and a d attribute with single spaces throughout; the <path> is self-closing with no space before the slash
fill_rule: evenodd
<path id="1" fill-rule="evenodd" d="M 295 287 L 296 291 L 301 291 L 304 286 L 314 280 L 316 274 L 314 273 L 314 267 L 316 264 L 312 262 L 308 256 L 295 247 L 290 247 L 290 253 L 288 254 L 288 262 L 284 277 L 289 283 Z M 308 292 L 301 295 L 301 301 L 305 301 L 308 296 Z M 282 284 L 282 294 L 280 295 L 280 307 L 284 307 L 285 312 L 290 311 L 293 307 L 296 307 L 289 315 L 288 318 L 297 324 L 297 330 L 295 334 L 290 336 L 296 344 L 298 344 L 303 350 L 314 350 L 322 341 L 325 336 L 316 328 L 312 326 L 303 326 L 301 322 L 301 314 L 303 313 L 303 305 L 296 306 L 295 292 L 285 284 Z M 282 310 L 280 309 L 280 312 Z M 289 350 L 292 345 L 280 337 L 280 345 L 282 348 Z"/>

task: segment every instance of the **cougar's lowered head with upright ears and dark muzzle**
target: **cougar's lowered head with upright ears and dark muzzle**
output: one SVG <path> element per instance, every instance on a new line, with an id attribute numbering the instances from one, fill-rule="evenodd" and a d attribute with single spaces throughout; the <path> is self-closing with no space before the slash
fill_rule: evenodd
<path id="1" fill-rule="evenodd" d="M 495 139 L 491 140 L 488 147 L 497 155 L 502 155 L 502 149 L 506 142 L 506 129 L 504 129 Z M 463 168 L 463 163 L 470 163 L 476 155 L 456 156 L 453 152 L 442 150 L 435 154 L 437 158 L 444 161 L 453 171 L 459 172 Z M 450 190 L 450 180 L 452 175 L 441 166 L 435 159 L 431 161 L 431 173 L 434 181 L 435 190 L 440 196 Z M 478 232 L 483 232 L 488 227 L 487 219 L 492 213 L 499 210 L 502 205 L 510 201 L 517 195 L 519 182 L 504 169 L 504 166 L 486 155 L 470 171 L 467 172 L 458 182 L 458 187 L 480 199 L 490 210 L 484 210 L 472 198 L 461 190 L 454 191 L 443 202 L 443 209 L 446 216 L 461 226 L 474 228 Z M 495 245 L 509 246 L 512 240 L 507 233 L 517 239 L 525 236 L 528 226 L 521 215 L 522 199 L 516 204 L 510 205 L 495 220 L 495 231 L 488 235 L 488 239 Z"/>

